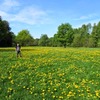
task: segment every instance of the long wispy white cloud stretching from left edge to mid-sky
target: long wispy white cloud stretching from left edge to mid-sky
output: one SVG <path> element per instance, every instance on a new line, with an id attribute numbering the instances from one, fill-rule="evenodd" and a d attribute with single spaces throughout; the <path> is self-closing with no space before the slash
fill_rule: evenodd
<path id="1" fill-rule="evenodd" d="M 46 11 L 34 7 L 20 9 L 16 14 L 0 11 L 0 15 L 10 22 L 21 22 L 29 25 L 51 22 Z"/>

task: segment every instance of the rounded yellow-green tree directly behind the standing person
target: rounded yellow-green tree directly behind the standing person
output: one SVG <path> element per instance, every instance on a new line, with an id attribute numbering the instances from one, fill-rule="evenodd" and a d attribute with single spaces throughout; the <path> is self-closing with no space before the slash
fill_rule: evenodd
<path id="1" fill-rule="evenodd" d="M 28 30 L 22 30 L 16 36 L 16 42 L 19 42 L 22 46 L 30 46 L 33 45 L 34 39 Z"/>

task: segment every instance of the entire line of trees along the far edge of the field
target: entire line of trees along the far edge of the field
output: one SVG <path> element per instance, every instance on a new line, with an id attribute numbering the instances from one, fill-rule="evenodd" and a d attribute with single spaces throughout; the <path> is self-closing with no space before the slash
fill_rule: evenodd
<path id="1" fill-rule="evenodd" d="M 11 47 L 16 43 L 22 46 L 51 46 L 51 47 L 100 47 L 100 22 L 83 24 L 73 28 L 69 23 L 58 26 L 53 37 L 42 34 L 34 39 L 28 30 L 21 30 L 17 35 L 11 32 L 8 21 L 0 17 L 0 47 Z"/>

